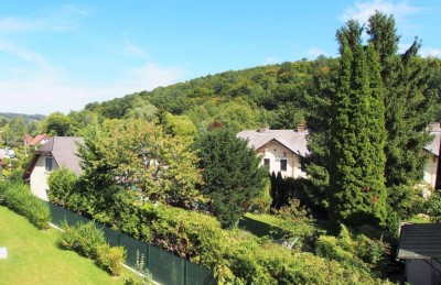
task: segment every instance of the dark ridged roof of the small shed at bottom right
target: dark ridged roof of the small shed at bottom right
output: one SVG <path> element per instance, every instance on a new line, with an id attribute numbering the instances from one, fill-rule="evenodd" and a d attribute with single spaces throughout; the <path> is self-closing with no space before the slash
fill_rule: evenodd
<path id="1" fill-rule="evenodd" d="M 441 223 L 416 223 L 401 227 L 398 259 L 441 257 Z"/>

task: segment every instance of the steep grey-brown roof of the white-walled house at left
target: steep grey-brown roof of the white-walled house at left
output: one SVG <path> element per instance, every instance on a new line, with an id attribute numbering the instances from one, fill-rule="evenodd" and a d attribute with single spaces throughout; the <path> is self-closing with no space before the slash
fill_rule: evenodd
<path id="1" fill-rule="evenodd" d="M 23 178 L 29 178 L 41 155 L 51 155 L 60 167 L 65 167 L 76 174 L 83 172 L 77 143 L 84 144 L 83 138 L 54 136 L 40 146 L 28 164 Z"/>

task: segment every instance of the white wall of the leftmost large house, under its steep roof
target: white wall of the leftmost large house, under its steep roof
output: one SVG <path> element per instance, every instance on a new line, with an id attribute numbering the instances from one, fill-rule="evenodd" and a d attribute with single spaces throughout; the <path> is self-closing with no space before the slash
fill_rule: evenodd
<path id="1" fill-rule="evenodd" d="M 30 177 L 30 186 L 31 191 L 43 200 L 49 200 L 47 198 L 47 177 L 51 172 L 46 171 L 45 168 L 45 158 L 46 156 L 41 155 L 36 161 L 35 167 L 31 173 Z M 52 169 L 58 168 L 55 160 L 52 160 Z"/>

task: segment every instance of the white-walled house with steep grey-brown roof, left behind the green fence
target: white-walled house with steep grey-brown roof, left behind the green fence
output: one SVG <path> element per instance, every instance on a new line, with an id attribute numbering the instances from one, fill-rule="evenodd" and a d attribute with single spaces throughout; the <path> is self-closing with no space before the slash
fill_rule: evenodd
<path id="1" fill-rule="evenodd" d="M 54 136 L 35 151 L 23 174 L 35 196 L 47 200 L 47 177 L 54 169 L 82 173 L 77 143 L 84 144 L 83 138 Z"/>

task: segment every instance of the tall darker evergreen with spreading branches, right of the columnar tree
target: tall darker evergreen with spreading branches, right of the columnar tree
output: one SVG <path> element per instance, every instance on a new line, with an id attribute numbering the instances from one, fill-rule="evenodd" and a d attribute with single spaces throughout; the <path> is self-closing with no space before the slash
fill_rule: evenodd
<path id="1" fill-rule="evenodd" d="M 385 87 L 386 185 L 412 184 L 422 179 L 427 163 L 421 149 L 431 138 L 426 128 L 433 120 L 433 99 L 428 88 L 428 69 L 418 57 L 418 39 L 397 55 L 399 36 L 395 19 L 381 12 L 369 18 L 368 40 L 377 51 Z"/>

